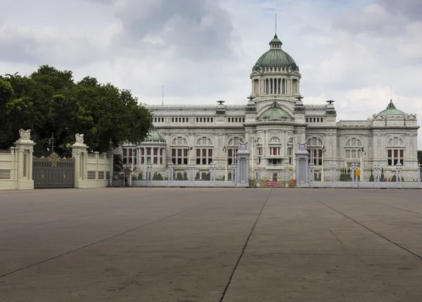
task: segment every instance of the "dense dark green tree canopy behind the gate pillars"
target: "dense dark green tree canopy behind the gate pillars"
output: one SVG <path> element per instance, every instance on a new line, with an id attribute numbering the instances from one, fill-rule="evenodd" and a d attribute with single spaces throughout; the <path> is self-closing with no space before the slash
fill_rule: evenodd
<path id="1" fill-rule="evenodd" d="M 151 125 L 151 112 L 131 91 L 93 77 L 75 82 L 71 71 L 49 65 L 30 76 L 0 76 L 0 149 L 11 147 L 22 128 L 31 129 L 37 156 L 49 154 L 52 134 L 60 155 L 70 155 L 76 133 L 92 150 L 106 152 L 110 139 L 115 146 L 141 143 Z"/>

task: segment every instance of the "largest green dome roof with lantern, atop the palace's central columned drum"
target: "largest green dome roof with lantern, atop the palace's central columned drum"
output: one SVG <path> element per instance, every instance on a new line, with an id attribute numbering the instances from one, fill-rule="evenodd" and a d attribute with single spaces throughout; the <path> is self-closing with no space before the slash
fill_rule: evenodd
<path id="1" fill-rule="evenodd" d="M 260 70 L 262 67 L 290 67 L 293 70 L 299 70 L 295 60 L 286 51 L 281 49 L 283 43 L 277 35 L 269 42 L 270 49 L 257 60 L 252 70 Z"/>

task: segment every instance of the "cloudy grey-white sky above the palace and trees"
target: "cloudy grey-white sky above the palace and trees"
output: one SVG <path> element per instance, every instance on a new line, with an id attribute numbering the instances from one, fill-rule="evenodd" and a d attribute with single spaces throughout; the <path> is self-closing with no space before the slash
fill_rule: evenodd
<path id="1" fill-rule="evenodd" d="M 277 34 L 308 104 L 338 119 L 395 105 L 422 119 L 421 0 L 0 0 L 0 74 L 72 70 L 142 103 L 245 104 Z M 418 140 L 422 147 L 422 134 Z"/>

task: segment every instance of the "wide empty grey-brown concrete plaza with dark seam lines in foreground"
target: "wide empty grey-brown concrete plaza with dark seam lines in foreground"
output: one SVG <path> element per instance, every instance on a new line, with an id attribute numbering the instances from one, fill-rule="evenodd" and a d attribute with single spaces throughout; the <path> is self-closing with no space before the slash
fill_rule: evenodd
<path id="1" fill-rule="evenodd" d="M 421 301 L 421 192 L 0 192 L 0 301 Z"/>

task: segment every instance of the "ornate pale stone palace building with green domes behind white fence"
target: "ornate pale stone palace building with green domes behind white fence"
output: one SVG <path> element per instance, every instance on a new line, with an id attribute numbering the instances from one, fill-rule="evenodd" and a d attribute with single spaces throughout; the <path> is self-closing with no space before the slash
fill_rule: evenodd
<path id="1" fill-rule="evenodd" d="M 250 170 L 276 180 L 295 177 L 295 145 L 307 142 L 315 178 L 328 180 L 330 166 L 337 169 L 357 163 L 363 180 L 371 176 L 375 163 L 385 178 L 402 164 L 404 180 L 417 178 L 416 114 L 407 114 L 386 102 L 385 110 L 362 120 L 337 120 L 333 100 L 307 105 L 300 94 L 300 69 L 282 49 L 275 35 L 269 50 L 261 55 L 250 74 L 251 93 L 245 105 L 149 105 L 154 128 L 139 145 L 119 149 L 124 164 L 145 178 L 146 164 L 165 173 L 187 171 L 196 164 L 200 177 L 217 166 L 224 178 L 236 164 L 239 142 L 250 147 Z M 255 175 L 252 173 L 252 175 Z M 338 177 L 340 173 L 338 173 Z"/>

